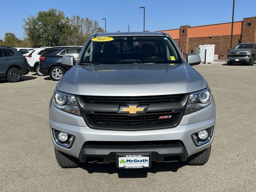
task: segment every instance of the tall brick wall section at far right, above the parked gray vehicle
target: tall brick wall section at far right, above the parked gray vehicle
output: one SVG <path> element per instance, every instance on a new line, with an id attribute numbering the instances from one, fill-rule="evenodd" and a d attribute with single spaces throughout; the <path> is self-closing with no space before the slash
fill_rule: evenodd
<path id="1" fill-rule="evenodd" d="M 247 26 L 247 23 L 251 26 Z M 256 17 L 244 18 L 242 28 L 242 42 L 256 42 Z"/>

